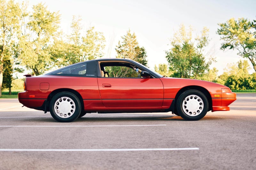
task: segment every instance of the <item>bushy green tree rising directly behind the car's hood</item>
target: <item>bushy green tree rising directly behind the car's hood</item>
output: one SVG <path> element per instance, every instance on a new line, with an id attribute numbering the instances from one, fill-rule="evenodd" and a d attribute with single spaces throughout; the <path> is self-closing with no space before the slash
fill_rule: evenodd
<path id="1" fill-rule="evenodd" d="M 214 61 L 211 57 L 207 61 L 203 53 L 209 43 L 209 30 L 204 27 L 201 36 L 195 39 L 192 38 L 192 31 L 191 27 L 186 31 L 185 26 L 181 25 L 171 39 L 171 49 L 165 51 L 170 70 L 174 72 L 172 77 L 196 79 L 203 76 Z"/>

